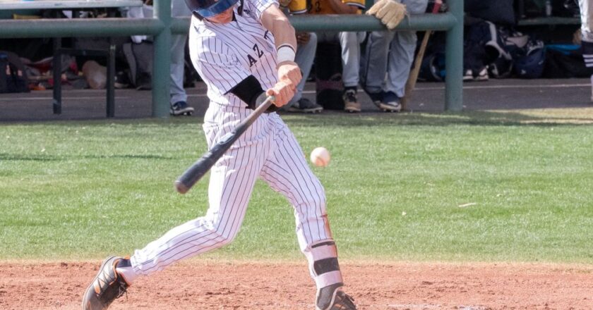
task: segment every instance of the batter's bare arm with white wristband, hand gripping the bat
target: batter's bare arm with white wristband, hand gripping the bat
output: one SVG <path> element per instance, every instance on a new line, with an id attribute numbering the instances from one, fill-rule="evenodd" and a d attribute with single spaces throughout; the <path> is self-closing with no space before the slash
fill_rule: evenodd
<path id="1" fill-rule="evenodd" d="M 296 35 L 288 18 L 275 5 L 268 6 L 261 14 L 261 23 L 272 32 L 276 42 L 278 80 L 293 92 L 301 82 L 301 69 L 294 62 L 296 54 Z"/>

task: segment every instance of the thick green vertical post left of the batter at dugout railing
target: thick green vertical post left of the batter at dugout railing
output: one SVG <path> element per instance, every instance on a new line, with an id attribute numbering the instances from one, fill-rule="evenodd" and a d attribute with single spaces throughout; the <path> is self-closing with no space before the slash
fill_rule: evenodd
<path id="1" fill-rule="evenodd" d="M 154 56 L 152 58 L 152 117 L 169 116 L 169 97 L 171 90 L 171 0 L 155 0 L 154 17 L 164 25 L 163 30 L 155 35 Z"/>

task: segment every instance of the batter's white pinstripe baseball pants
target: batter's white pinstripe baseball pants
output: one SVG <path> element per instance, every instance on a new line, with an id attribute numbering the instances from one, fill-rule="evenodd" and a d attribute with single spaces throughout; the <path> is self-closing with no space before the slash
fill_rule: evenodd
<path id="1" fill-rule="evenodd" d="M 203 126 L 208 147 L 249 113 L 251 110 L 244 108 L 210 104 Z M 257 178 L 294 206 L 301 251 L 313 242 L 332 238 L 323 186 L 307 165 L 292 132 L 280 116 L 270 113 L 260 116 L 212 167 L 206 215 L 136 250 L 131 257 L 134 271 L 148 275 L 231 242 L 239 232 Z"/>

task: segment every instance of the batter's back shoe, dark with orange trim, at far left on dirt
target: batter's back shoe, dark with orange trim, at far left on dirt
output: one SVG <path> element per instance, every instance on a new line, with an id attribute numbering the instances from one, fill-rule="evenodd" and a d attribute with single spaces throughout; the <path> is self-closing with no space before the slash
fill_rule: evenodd
<path id="1" fill-rule="evenodd" d="M 110 256 L 105 259 L 99 272 L 88 286 L 83 295 L 83 310 L 105 310 L 112 302 L 121 297 L 128 289 L 128 283 L 115 268 L 124 259 L 120 256 Z"/>

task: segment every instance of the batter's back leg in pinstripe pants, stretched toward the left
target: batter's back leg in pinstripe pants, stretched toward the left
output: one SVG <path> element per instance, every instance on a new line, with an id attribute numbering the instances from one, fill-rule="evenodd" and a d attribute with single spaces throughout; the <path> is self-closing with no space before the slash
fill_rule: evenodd
<path id="1" fill-rule="evenodd" d="M 222 128 L 219 128 L 219 123 L 205 122 L 204 130 L 209 148 L 225 132 L 230 132 L 239 120 L 251 113 L 248 109 L 241 111 L 240 113 L 244 113 L 243 117 L 232 112 L 212 113 L 212 109 L 208 109 L 206 120 L 236 120 L 229 122 L 231 124 L 224 124 Z M 205 216 L 179 225 L 144 249 L 136 250 L 131 256 L 131 265 L 137 274 L 148 275 L 175 261 L 222 247 L 234 239 L 243 222 L 253 185 L 272 143 L 272 138 L 264 133 L 263 124 L 265 121 L 256 120 L 248 132 L 210 170 L 209 208 Z"/>

